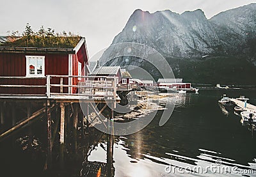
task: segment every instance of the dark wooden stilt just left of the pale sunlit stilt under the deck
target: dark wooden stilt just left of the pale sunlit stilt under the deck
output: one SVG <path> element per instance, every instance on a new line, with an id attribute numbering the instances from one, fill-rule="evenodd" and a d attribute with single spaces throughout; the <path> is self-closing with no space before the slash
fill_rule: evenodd
<path id="1" fill-rule="evenodd" d="M 47 100 L 47 162 L 46 169 L 50 169 L 52 165 L 52 119 L 51 119 L 51 103 Z"/>

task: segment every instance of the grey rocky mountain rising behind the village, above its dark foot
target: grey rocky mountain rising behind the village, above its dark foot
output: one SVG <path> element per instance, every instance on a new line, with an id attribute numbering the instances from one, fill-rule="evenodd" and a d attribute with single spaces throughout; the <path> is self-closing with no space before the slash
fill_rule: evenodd
<path id="1" fill-rule="evenodd" d="M 136 43 L 146 47 L 136 47 Z M 134 49 L 138 56 L 129 54 Z M 211 19 L 207 19 L 202 10 L 182 14 L 170 10 L 155 13 L 135 10 L 100 58 L 100 65 L 141 66 L 158 77 L 154 67 L 143 61 L 156 52 L 154 50 L 163 55 L 175 75 L 180 76 L 187 75 L 186 70 L 181 73 L 180 64 L 202 65 L 212 58 L 216 60 L 215 67 L 221 65 L 223 58 L 243 58 L 241 62 L 256 66 L 256 4 L 227 10 Z M 177 60 L 179 64 L 174 62 Z M 237 63 L 236 67 L 239 67 Z"/>

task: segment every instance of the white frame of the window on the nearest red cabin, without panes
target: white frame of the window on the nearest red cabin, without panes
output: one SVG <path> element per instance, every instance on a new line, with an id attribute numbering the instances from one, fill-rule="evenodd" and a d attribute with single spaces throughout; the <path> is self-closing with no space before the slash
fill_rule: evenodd
<path id="1" fill-rule="evenodd" d="M 35 66 L 35 74 L 29 73 L 29 59 L 42 59 L 42 74 L 37 73 L 37 66 Z M 26 77 L 45 77 L 45 56 L 26 56 Z"/>

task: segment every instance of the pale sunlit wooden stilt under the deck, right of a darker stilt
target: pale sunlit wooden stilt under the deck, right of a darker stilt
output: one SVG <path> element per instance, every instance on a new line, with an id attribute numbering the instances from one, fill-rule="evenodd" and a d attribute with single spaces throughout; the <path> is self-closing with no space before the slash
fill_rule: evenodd
<path id="1" fill-rule="evenodd" d="M 60 167 L 64 168 L 65 105 L 60 103 Z"/>

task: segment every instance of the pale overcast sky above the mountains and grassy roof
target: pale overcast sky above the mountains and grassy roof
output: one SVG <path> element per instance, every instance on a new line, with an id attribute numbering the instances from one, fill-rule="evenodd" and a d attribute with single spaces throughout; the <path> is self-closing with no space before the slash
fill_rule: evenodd
<path id="1" fill-rule="evenodd" d="M 207 19 L 225 10 L 256 3 L 256 0 L 1 0 L 0 35 L 24 31 L 29 23 L 34 31 L 40 26 L 56 31 L 71 31 L 86 38 L 89 56 L 108 47 L 134 12 L 202 9 Z"/>

